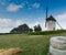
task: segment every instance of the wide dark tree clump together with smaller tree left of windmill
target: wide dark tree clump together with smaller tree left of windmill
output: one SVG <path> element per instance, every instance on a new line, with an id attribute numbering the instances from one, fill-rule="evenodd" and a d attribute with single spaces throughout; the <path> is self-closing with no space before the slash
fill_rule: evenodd
<path id="1" fill-rule="evenodd" d="M 19 25 L 10 31 L 10 33 L 30 33 L 30 32 L 41 32 L 42 28 L 40 24 L 34 25 L 34 30 L 31 29 L 28 24 Z"/>

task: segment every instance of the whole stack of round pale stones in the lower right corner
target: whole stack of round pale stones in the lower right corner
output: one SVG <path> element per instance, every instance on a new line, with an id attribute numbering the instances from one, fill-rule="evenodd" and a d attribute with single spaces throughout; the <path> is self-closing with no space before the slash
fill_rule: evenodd
<path id="1" fill-rule="evenodd" d="M 52 37 L 50 53 L 47 55 L 66 55 L 66 37 L 65 36 Z"/>

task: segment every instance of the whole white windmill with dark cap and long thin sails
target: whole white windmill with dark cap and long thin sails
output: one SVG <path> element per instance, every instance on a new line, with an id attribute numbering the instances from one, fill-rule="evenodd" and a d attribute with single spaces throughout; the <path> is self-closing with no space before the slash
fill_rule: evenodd
<path id="1" fill-rule="evenodd" d="M 55 20 L 55 18 L 52 14 L 48 16 L 48 4 L 47 4 L 47 0 L 46 0 L 45 28 L 47 29 L 47 31 L 55 31 L 56 30 L 56 24 L 63 30 L 63 28 L 59 25 L 57 20 Z"/>

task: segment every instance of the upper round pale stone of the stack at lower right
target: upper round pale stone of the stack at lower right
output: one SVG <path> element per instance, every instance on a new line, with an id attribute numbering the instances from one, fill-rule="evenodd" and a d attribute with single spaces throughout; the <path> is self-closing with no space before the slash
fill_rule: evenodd
<path id="1" fill-rule="evenodd" d="M 51 46 L 57 50 L 66 50 L 66 37 L 64 36 L 52 37 Z"/>

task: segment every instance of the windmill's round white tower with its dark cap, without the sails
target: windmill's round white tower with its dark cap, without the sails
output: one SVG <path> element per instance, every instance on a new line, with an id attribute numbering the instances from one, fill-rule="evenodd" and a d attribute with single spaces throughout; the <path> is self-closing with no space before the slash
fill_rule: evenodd
<path id="1" fill-rule="evenodd" d="M 51 15 L 50 18 L 46 18 L 46 29 L 47 31 L 55 31 L 56 29 L 56 20 Z"/>

